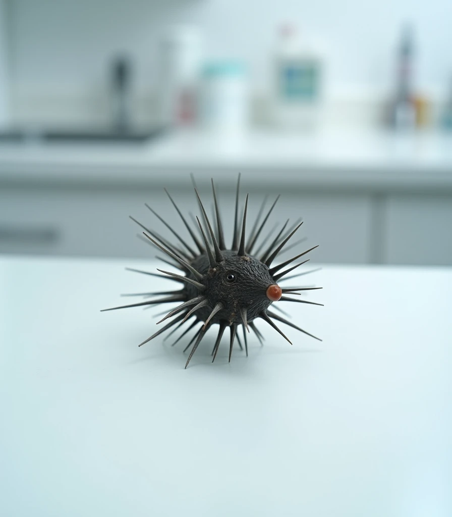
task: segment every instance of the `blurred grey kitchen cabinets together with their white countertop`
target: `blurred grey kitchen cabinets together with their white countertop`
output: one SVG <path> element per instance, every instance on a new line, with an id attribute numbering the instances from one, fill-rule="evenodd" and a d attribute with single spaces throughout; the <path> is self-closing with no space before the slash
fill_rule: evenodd
<path id="1" fill-rule="evenodd" d="M 209 214 L 215 179 L 230 231 L 240 171 L 250 221 L 266 194 L 267 206 L 281 194 L 267 229 L 302 217 L 306 246 L 319 245 L 313 261 L 450 265 L 452 136 L 400 138 L 256 133 L 234 146 L 175 133 L 141 146 L 3 146 L 0 253 L 153 256 L 128 216 L 167 235 L 147 202 L 186 235 L 163 187 L 185 214 L 199 214 L 190 173 Z"/>

